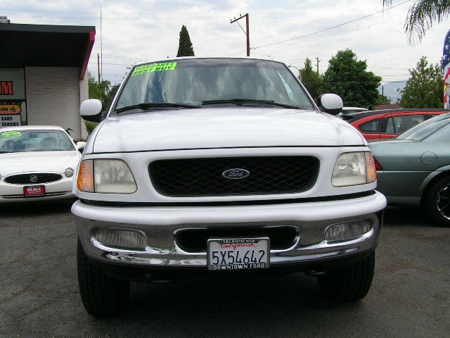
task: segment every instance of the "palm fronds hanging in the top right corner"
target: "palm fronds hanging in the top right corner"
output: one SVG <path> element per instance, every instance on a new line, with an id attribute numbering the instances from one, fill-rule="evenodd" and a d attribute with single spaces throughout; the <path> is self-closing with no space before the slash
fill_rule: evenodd
<path id="1" fill-rule="evenodd" d="M 383 0 L 383 8 L 397 0 Z M 413 0 L 404 24 L 410 44 L 420 42 L 434 23 L 440 23 L 450 14 L 450 0 Z"/>

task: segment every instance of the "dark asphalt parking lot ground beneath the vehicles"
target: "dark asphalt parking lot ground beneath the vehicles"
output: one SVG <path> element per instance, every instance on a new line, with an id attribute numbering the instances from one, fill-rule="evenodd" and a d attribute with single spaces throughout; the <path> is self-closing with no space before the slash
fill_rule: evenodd
<path id="1" fill-rule="evenodd" d="M 77 285 L 70 206 L 0 209 L 0 337 L 450 337 L 450 228 L 389 208 L 375 279 L 358 303 L 302 274 L 131 284 L 130 308 L 96 319 Z"/>

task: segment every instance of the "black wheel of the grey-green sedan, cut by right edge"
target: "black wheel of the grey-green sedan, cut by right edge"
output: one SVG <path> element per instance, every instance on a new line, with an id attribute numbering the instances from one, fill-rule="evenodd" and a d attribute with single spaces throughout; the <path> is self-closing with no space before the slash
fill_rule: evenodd
<path id="1" fill-rule="evenodd" d="M 423 196 L 425 212 L 435 222 L 450 227 L 450 176 L 438 178 Z"/>

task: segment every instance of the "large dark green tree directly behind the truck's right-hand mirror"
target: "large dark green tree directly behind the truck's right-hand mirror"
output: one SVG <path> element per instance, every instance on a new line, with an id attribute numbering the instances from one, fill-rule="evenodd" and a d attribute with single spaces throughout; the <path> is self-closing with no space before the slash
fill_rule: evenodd
<path id="1" fill-rule="evenodd" d="M 351 49 L 338 51 L 328 61 L 321 92 L 340 95 L 345 106 L 372 109 L 378 101 L 381 77 L 366 69 L 366 61 L 358 60 Z"/>

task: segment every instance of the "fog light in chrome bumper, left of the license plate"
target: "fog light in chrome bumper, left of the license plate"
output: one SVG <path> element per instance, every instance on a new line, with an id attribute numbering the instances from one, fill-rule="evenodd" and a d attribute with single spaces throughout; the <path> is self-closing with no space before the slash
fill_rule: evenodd
<path id="1" fill-rule="evenodd" d="M 145 250 L 147 238 L 143 232 L 109 227 L 96 230 L 94 237 L 104 246 L 117 249 Z"/>

